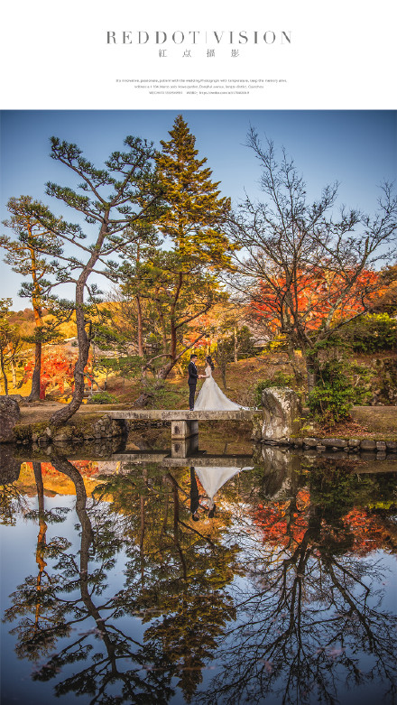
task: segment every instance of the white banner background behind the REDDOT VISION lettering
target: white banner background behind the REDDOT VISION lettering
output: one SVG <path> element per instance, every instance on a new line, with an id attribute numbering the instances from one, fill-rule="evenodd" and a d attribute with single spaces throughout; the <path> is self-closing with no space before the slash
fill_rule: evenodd
<path id="1" fill-rule="evenodd" d="M 391 0 L 375 5 L 357 0 L 7 3 L 1 107 L 394 108 L 394 6 Z M 138 31 L 148 32 L 150 41 L 120 42 L 122 32 L 134 37 Z M 193 31 L 200 32 L 196 45 L 189 42 Z M 224 32 L 222 41 L 202 43 L 205 32 L 211 37 L 214 31 Z M 106 32 L 115 32 L 118 43 L 106 43 Z M 168 38 L 179 32 L 179 39 L 183 32 L 185 41 L 156 44 L 155 32 Z M 234 32 L 232 44 L 229 32 Z M 238 32 L 246 32 L 250 41 L 238 44 Z M 254 44 L 254 32 L 260 37 L 274 32 L 276 39 Z M 291 32 L 291 43 L 280 42 L 282 32 Z M 166 56 L 159 55 L 162 49 Z M 208 57 L 210 49 L 215 56 Z M 190 56 L 183 56 L 185 50 Z M 232 50 L 238 55 L 232 57 Z M 256 79 L 263 86 L 221 94 L 176 88 L 151 93 L 136 83 L 149 85 L 145 79 L 211 79 L 215 87 L 225 79 Z"/>

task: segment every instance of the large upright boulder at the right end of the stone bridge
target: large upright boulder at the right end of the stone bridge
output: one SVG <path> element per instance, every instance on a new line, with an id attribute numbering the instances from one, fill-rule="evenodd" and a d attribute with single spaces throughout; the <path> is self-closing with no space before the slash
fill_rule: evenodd
<path id="1" fill-rule="evenodd" d="M 300 435 L 302 405 L 298 394 L 292 389 L 263 389 L 262 404 L 263 439 L 290 441 L 292 436 Z"/>

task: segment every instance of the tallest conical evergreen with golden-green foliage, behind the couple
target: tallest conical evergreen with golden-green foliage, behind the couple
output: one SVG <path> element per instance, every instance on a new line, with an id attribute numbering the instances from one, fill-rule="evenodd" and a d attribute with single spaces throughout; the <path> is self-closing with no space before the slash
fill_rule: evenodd
<path id="1" fill-rule="evenodd" d="M 196 138 L 182 116 L 175 119 L 170 136 L 169 142 L 162 141 L 162 153 L 156 157 L 167 206 L 157 223 L 172 246 L 147 263 L 162 329 L 159 357 L 166 360 L 156 372 L 160 379 L 204 335 L 204 329 L 197 331 L 191 342 L 184 339 L 183 331 L 219 301 L 215 274 L 230 266 L 234 250 L 224 232 L 230 199 L 220 197 L 219 181 L 211 180 L 207 159 L 199 159 Z"/>

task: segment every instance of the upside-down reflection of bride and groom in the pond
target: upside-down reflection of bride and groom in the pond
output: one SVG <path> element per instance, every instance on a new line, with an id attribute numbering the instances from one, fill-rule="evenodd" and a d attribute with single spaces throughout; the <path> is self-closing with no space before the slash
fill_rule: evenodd
<path id="1" fill-rule="evenodd" d="M 233 478 L 238 472 L 251 469 L 252 467 L 190 467 L 190 513 L 193 521 L 199 521 L 199 508 L 204 509 L 204 507 L 199 503 L 200 496 L 196 475 L 199 478 L 201 486 L 206 491 L 208 498 L 208 506 L 206 506 L 206 511 L 208 511 L 208 518 L 212 519 L 217 509 L 217 505 L 214 502 L 214 496 L 217 494 L 217 490 L 225 485 L 227 480 Z"/>

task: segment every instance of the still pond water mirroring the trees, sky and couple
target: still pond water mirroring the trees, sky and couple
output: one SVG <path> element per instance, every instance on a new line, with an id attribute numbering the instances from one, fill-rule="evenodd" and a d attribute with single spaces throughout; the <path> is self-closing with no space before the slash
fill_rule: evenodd
<path id="1" fill-rule="evenodd" d="M 395 702 L 397 457 L 166 441 L 1 450 L 2 703 Z"/>

